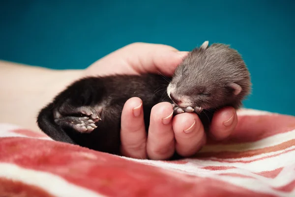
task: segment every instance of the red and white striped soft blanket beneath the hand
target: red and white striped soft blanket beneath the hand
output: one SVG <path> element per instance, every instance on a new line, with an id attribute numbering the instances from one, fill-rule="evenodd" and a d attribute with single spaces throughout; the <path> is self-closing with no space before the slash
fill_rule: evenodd
<path id="1" fill-rule="evenodd" d="M 136 160 L 0 124 L 0 197 L 295 197 L 295 117 L 238 111 L 194 158 Z"/>

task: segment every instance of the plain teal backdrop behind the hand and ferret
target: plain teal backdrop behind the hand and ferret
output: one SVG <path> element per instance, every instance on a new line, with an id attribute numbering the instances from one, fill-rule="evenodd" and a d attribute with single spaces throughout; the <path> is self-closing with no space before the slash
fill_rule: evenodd
<path id="1" fill-rule="evenodd" d="M 231 44 L 252 75 L 249 108 L 295 115 L 293 0 L 1 0 L 0 59 L 85 68 L 132 42 Z"/>

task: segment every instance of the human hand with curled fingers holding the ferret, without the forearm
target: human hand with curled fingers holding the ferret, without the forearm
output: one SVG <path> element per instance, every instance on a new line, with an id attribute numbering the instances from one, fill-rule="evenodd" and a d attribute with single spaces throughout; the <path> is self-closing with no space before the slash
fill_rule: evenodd
<path id="1" fill-rule="evenodd" d="M 134 43 L 96 61 L 85 75 L 158 73 L 172 75 L 187 52 L 160 44 Z M 237 124 L 236 110 L 225 107 L 213 115 L 209 135 L 215 140 L 227 138 Z M 171 103 L 156 104 L 151 110 L 148 135 L 145 131 L 142 100 L 126 101 L 121 116 L 121 153 L 126 157 L 166 160 L 174 152 L 188 157 L 206 143 L 207 135 L 195 113 L 182 113 L 173 118 Z"/>

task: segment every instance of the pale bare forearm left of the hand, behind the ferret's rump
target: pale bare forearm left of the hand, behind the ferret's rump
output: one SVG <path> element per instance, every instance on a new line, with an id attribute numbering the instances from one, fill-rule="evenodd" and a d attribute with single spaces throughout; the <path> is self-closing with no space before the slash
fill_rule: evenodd
<path id="1" fill-rule="evenodd" d="M 0 61 L 0 122 L 39 131 L 38 111 L 82 76 L 82 70 L 53 70 Z"/>

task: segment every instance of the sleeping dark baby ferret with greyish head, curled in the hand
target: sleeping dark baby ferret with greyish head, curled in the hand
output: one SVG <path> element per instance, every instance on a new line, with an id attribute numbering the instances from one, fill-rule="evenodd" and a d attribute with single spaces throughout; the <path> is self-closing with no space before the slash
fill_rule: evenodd
<path id="1" fill-rule="evenodd" d="M 171 78 L 143 74 L 80 79 L 40 111 L 37 124 L 54 140 L 119 154 L 121 112 L 132 97 L 143 101 L 146 131 L 151 108 L 164 101 L 173 103 L 175 114 L 197 113 L 207 129 L 214 111 L 239 108 L 250 90 L 250 74 L 239 53 L 206 41 L 184 58 Z"/>

